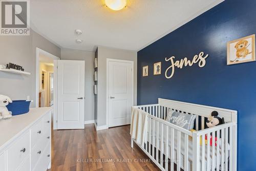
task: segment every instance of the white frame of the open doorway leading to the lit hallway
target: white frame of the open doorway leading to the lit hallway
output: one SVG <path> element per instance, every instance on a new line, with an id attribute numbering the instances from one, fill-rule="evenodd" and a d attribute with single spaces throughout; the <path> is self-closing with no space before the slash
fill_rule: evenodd
<path id="1" fill-rule="evenodd" d="M 53 60 L 59 60 L 60 58 L 45 51 L 45 50 L 42 50 L 38 47 L 36 47 L 36 76 L 35 76 L 35 106 L 36 108 L 38 108 L 38 102 L 39 102 L 39 81 L 40 81 L 40 78 L 39 78 L 39 54 L 44 54 L 48 57 L 51 57 L 53 58 Z M 53 62 L 54 63 L 54 62 Z M 55 63 L 54 63 L 55 64 Z M 54 68 L 57 68 L 57 66 L 54 66 Z M 55 73 L 53 73 L 55 74 Z M 55 83 L 56 84 L 56 83 Z M 54 86 L 54 92 L 57 91 L 57 86 Z M 53 103 L 56 103 L 57 102 L 57 98 L 56 98 L 56 94 L 54 93 L 53 95 Z M 53 118 L 54 118 L 54 114 L 57 112 L 57 105 L 53 105 Z M 57 124 L 56 124 L 56 121 L 53 120 L 53 129 L 55 128 L 56 129 L 57 127 Z"/>

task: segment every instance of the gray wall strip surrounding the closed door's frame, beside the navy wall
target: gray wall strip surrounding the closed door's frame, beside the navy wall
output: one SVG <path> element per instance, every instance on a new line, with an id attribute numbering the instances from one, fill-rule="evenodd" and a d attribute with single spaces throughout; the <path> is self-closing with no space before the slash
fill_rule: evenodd
<path id="1" fill-rule="evenodd" d="M 106 124 L 106 58 L 134 61 L 134 105 L 137 104 L 137 52 L 98 47 L 97 125 Z"/>

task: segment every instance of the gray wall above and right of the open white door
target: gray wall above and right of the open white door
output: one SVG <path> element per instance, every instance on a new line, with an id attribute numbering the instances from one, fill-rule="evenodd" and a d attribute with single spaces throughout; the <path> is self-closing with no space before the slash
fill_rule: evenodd
<path id="1" fill-rule="evenodd" d="M 84 60 L 86 62 L 85 70 L 85 109 L 84 120 L 94 120 L 94 92 L 93 92 L 93 74 L 94 74 L 94 53 L 73 49 L 61 49 L 61 59 L 65 60 Z"/>

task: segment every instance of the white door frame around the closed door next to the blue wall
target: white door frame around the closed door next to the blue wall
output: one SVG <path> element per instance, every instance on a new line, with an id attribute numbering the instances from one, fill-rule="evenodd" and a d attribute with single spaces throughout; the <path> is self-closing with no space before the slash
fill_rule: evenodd
<path id="1" fill-rule="evenodd" d="M 109 129 L 109 62 L 125 62 L 132 64 L 132 105 L 134 105 L 134 61 L 106 58 L 106 127 Z"/>

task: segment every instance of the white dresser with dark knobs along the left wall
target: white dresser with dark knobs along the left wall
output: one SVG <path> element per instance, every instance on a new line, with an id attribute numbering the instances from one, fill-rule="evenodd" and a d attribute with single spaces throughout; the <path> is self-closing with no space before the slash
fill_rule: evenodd
<path id="1" fill-rule="evenodd" d="M 51 108 L 0 120 L 0 170 L 46 171 L 51 168 Z"/>

